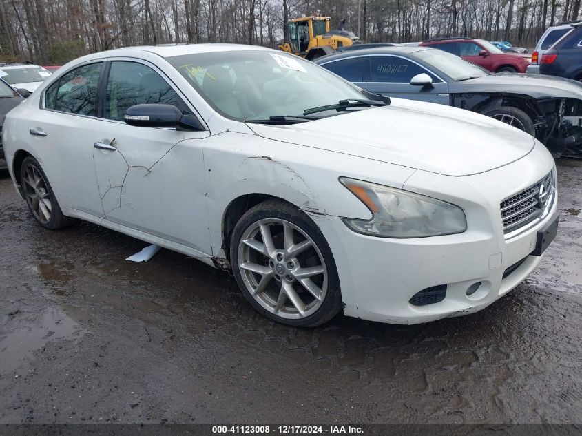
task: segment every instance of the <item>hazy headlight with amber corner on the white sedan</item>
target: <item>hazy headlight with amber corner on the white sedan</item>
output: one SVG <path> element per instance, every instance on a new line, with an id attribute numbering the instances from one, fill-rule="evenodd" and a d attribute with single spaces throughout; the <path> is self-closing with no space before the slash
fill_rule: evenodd
<path id="1" fill-rule="evenodd" d="M 423 238 L 463 233 L 467 229 L 463 209 L 450 203 L 353 178 L 340 177 L 340 182 L 373 214 L 371 220 L 343 218 L 357 233 L 384 238 Z"/>

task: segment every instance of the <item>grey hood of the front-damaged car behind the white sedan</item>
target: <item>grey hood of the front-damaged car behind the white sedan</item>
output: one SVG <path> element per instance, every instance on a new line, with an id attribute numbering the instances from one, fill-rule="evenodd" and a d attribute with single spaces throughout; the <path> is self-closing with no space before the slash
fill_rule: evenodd
<path id="1" fill-rule="evenodd" d="M 497 73 L 450 83 L 450 92 L 510 92 L 533 98 L 577 98 L 582 100 L 582 83 L 543 74 Z"/>

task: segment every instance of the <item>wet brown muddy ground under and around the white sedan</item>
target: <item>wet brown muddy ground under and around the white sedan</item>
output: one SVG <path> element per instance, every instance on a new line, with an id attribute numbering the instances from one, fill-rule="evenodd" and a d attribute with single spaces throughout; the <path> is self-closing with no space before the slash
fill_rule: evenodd
<path id="1" fill-rule="evenodd" d="M 557 240 L 488 309 L 313 330 L 180 254 L 42 229 L 0 172 L 0 423 L 579 423 L 582 162 L 558 172 Z"/>

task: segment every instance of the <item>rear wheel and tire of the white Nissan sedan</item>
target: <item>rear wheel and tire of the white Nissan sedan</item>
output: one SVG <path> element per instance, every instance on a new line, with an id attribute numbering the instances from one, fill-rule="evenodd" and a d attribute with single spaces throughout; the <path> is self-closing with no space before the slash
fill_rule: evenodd
<path id="1" fill-rule="evenodd" d="M 32 216 L 46 229 L 59 229 L 74 220 L 63 215 L 39 162 L 32 156 L 23 160 L 20 172 L 22 193 Z"/>

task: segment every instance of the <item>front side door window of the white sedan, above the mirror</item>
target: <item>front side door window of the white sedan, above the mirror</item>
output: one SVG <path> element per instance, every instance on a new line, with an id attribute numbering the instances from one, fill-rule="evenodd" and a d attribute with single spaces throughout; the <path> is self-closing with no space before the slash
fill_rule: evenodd
<path id="1" fill-rule="evenodd" d="M 164 103 L 185 109 L 178 94 L 152 68 L 135 62 L 113 62 L 107 81 L 105 118 L 123 121 L 129 107 L 144 103 Z"/>

